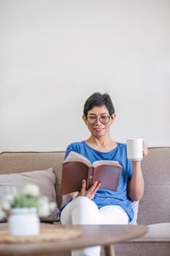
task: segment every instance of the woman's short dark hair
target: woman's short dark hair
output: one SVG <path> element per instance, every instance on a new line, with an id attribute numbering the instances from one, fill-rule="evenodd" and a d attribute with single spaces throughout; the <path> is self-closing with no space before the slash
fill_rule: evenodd
<path id="1" fill-rule="evenodd" d="M 101 94 L 100 92 L 95 92 L 94 94 L 90 95 L 90 97 L 88 97 L 88 99 L 85 101 L 83 114 L 85 115 L 85 117 L 87 117 L 89 110 L 91 110 L 95 106 L 102 105 L 105 105 L 107 107 L 110 116 L 115 113 L 115 108 L 109 94 Z"/>

